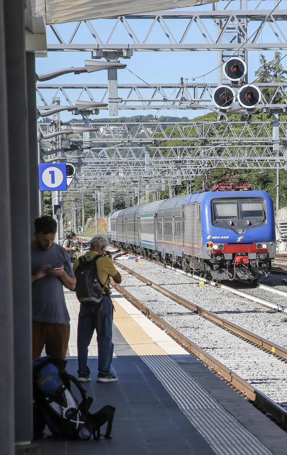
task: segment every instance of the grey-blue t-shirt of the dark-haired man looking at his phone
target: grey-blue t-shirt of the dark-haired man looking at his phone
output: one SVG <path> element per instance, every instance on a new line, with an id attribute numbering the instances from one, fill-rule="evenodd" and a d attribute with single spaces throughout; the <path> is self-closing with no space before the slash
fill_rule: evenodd
<path id="1" fill-rule="evenodd" d="M 31 263 L 32 275 L 42 265 L 50 264 L 52 268 L 63 265 L 66 273 L 70 277 L 74 276 L 68 252 L 57 243 L 53 243 L 53 246 L 47 251 L 31 247 Z M 32 283 L 32 320 L 70 325 L 64 287 L 60 278 L 47 275 Z"/>

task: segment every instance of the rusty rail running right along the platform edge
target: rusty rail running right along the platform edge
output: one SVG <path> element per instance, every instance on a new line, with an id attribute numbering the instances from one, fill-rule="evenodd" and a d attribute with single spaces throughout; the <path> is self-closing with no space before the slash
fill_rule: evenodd
<path id="1" fill-rule="evenodd" d="M 287 426 L 287 411 L 281 408 L 279 404 L 272 401 L 265 394 L 262 394 L 259 390 L 252 387 L 247 381 L 242 379 L 227 366 L 223 365 L 217 359 L 214 359 L 210 354 L 207 354 L 192 341 L 174 329 L 170 324 L 167 324 L 163 319 L 157 316 L 150 308 L 146 307 L 137 298 L 135 298 L 126 289 L 122 288 L 119 284 L 115 284 L 114 287 L 130 300 L 137 308 L 139 308 L 146 316 L 150 317 L 161 329 L 164 329 L 171 337 L 176 339 L 182 344 L 187 350 L 195 354 L 197 358 L 201 359 L 205 364 L 212 367 L 217 373 L 219 373 L 224 379 L 226 379 L 233 387 L 242 392 L 247 398 L 249 398 L 255 405 L 266 411 L 268 414 L 281 425 Z M 170 291 L 169 291 L 170 292 Z"/>

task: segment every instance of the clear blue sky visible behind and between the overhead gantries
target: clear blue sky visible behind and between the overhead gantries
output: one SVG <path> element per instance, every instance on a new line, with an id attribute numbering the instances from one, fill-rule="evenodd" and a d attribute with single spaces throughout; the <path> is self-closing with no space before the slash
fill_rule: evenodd
<path id="1" fill-rule="evenodd" d="M 221 2 L 222 3 L 222 2 Z M 251 8 L 252 5 L 256 5 L 257 2 L 255 1 L 248 1 L 248 6 Z M 226 2 L 224 2 L 226 4 Z M 286 0 L 282 0 L 280 8 L 285 8 L 287 4 Z M 264 9 L 272 10 L 274 7 L 274 2 L 272 1 L 264 1 L 263 2 Z M 238 2 L 232 1 L 231 8 L 234 10 L 238 8 Z M 189 9 L 189 8 L 188 8 Z M 205 5 L 203 7 L 197 7 L 196 10 L 210 10 L 211 5 Z M 220 9 L 220 6 L 218 7 Z M 180 9 L 182 10 L 182 9 Z M 113 25 L 115 24 L 115 19 L 105 19 L 105 20 L 93 20 L 92 25 L 96 29 L 98 35 L 100 35 L 101 39 L 104 41 L 108 37 L 111 32 Z M 134 30 L 136 30 L 136 34 L 139 40 L 145 36 L 149 26 L 151 24 L 151 20 L 131 20 L 131 26 Z M 176 39 L 179 39 L 185 26 L 188 23 L 188 20 L 166 20 L 167 25 L 170 27 L 173 35 Z M 216 37 L 216 27 L 213 25 L 211 20 L 204 21 L 208 32 L 211 34 L 213 38 Z M 282 29 L 286 28 L 285 23 L 281 22 Z M 72 31 L 75 28 L 75 23 L 73 24 L 63 24 L 58 25 L 57 28 L 60 31 L 61 36 L 68 40 Z M 258 22 L 251 22 L 248 25 L 248 36 L 252 35 L 252 33 L 256 30 L 257 26 L 259 25 Z M 260 42 L 276 42 L 276 38 L 272 30 L 270 29 L 269 25 L 266 25 L 262 32 L 262 36 L 260 37 Z M 56 43 L 57 40 L 55 35 L 53 34 L 50 27 L 47 27 L 47 42 L 52 44 Z M 94 42 L 93 37 L 91 36 L 90 32 L 86 28 L 85 24 L 81 24 L 80 29 L 78 30 L 75 40 L 75 43 L 92 43 Z M 131 42 L 130 37 L 128 36 L 126 30 L 121 25 L 116 30 L 115 34 L 113 35 L 111 43 L 126 43 Z M 161 43 L 168 43 L 166 36 L 164 35 L 161 27 L 157 25 L 153 32 L 151 33 L 149 43 L 152 42 L 161 42 Z M 205 42 L 203 36 L 201 35 L 200 31 L 196 28 L 192 28 L 187 36 L 185 42 L 190 43 L 203 43 Z M 254 71 L 259 66 L 259 55 L 261 51 L 249 51 L 248 52 L 248 81 L 252 82 L 254 79 Z M 263 52 L 267 59 L 270 60 L 273 58 L 274 51 L 267 51 Z M 282 55 L 285 55 L 285 52 L 282 52 Z M 85 60 L 91 60 L 91 53 L 90 52 L 49 52 L 47 58 L 37 58 L 36 59 L 36 71 L 37 73 L 43 73 L 47 71 L 52 71 L 54 69 L 65 68 L 70 66 L 84 66 Z M 144 81 L 147 83 L 175 83 L 177 84 L 180 81 L 180 78 L 197 78 L 197 82 L 217 82 L 217 52 L 212 51 L 195 51 L 195 52 L 134 52 L 131 59 L 121 60 L 122 62 L 127 64 L 127 68 L 133 71 L 136 75 L 140 76 Z M 282 61 L 282 64 L 285 68 L 287 68 L 287 57 L 285 60 Z M 211 74 L 207 75 L 206 77 L 201 77 L 206 72 L 213 70 Z M 96 73 L 90 74 L 81 74 L 81 75 L 74 75 L 69 74 L 65 76 L 60 76 L 55 78 L 52 81 L 47 83 L 89 83 L 89 84 L 98 84 L 98 83 L 106 83 L 107 82 L 107 73 L 106 71 L 99 71 Z M 119 70 L 118 71 L 118 82 L 119 83 L 142 83 L 136 76 L 132 75 L 127 70 Z M 46 94 L 46 92 L 45 92 Z M 77 93 L 73 94 L 71 91 L 69 92 L 70 96 L 75 96 L 74 99 L 71 101 L 76 101 Z M 52 93 L 49 93 L 51 98 Z M 50 101 L 49 96 L 47 96 L 47 101 Z M 99 98 L 101 98 L 101 93 L 99 93 Z M 99 99 L 100 101 L 100 99 Z M 39 100 L 38 100 L 39 103 Z M 41 104 L 41 103 L 40 103 Z M 119 111 L 119 116 L 133 116 L 133 115 L 147 115 L 147 114 L 156 114 L 156 111 Z M 189 118 L 196 117 L 198 115 L 203 114 L 203 111 L 186 111 L 186 110 L 164 110 L 161 109 L 158 112 L 158 116 L 160 115 L 170 115 L 170 116 L 187 116 Z M 61 113 L 61 118 L 63 121 L 70 119 L 70 113 Z M 94 117 L 96 118 L 103 118 L 108 117 L 107 111 L 100 111 L 99 116 Z"/>

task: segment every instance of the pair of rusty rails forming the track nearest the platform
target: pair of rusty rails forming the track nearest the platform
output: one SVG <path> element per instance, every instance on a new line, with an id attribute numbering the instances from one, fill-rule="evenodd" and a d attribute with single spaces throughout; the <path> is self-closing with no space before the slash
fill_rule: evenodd
<path id="1" fill-rule="evenodd" d="M 217 314 L 212 313 L 185 298 L 182 298 L 176 293 L 171 292 L 170 290 L 164 288 L 163 286 L 158 285 L 157 283 L 154 283 L 151 280 L 143 277 L 139 273 L 136 273 L 135 271 L 127 268 L 126 266 L 123 266 L 123 264 L 121 263 L 116 263 L 116 266 L 133 275 L 137 280 L 140 280 L 142 283 L 145 283 L 149 287 L 155 289 L 157 292 L 160 292 L 164 296 L 172 299 L 174 302 L 179 303 L 181 306 L 184 306 L 185 308 L 188 308 L 194 314 L 201 316 L 204 320 L 206 320 L 206 324 L 208 323 L 215 324 L 216 333 L 218 332 L 218 330 L 224 329 L 225 331 L 224 333 L 226 333 L 227 331 L 227 334 L 228 333 L 231 334 L 230 336 L 235 335 L 236 339 L 239 338 L 241 340 L 244 340 L 242 342 L 247 341 L 248 344 L 251 344 L 252 346 L 250 349 L 254 350 L 254 347 L 260 348 L 261 352 L 263 351 L 265 353 L 264 355 L 267 357 L 270 356 L 270 354 L 273 354 L 274 361 L 277 358 L 277 362 L 279 362 L 279 364 L 282 364 L 282 362 L 287 363 L 287 349 L 282 348 L 281 346 L 278 346 L 277 344 L 274 344 L 271 341 L 258 336 L 257 334 L 248 332 L 246 329 L 239 327 L 227 321 L 226 319 L 219 317 Z M 254 404 L 262 408 L 268 414 L 272 415 L 272 417 L 278 423 L 287 426 L 287 411 L 283 409 L 279 404 L 273 401 L 266 394 L 262 393 L 260 390 L 256 389 L 252 384 L 250 384 L 250 382 L 236 374 L 228 366 L 224 365 L 218 359 L 211 356 L 211 354 L 206 352 L 206 349 L 203 349 L 198 344 L 193 343 L 188 336 L 182 334 L 182 331 L 173 327 L 173 325 L 169 324 L 166 320 L 164 320 L 162 317 L 156 314 L 156 311 L 153 311 L 151 308 L 146 306 L 146 304 L 142 302 L 142 298 L 139 300 L 138 297 L 133 295 L 133 293 L 131 293 L 130 290 L 127 290 L 123 286 L 116 285 L 116 288 L 122 295 L 124 295 L 132 303 L 134 303 L 137 308 L 139 308 L 143 313 L 145 313 L 154 322 L 156 322 L 156 324 L 158 324 L 162 329 L 164 329 L 168 334 L 170 334 L 171 337 L 175 338 L 187 350 L 189 350 L 192 354 L 196 355 L 196 357 L 201 359 L 206 365 L 214 369 L 218 374 L 222 376 L 222 378 L 226 379 L 235 389 L 244 394 Z M 142 294 L 142 290 L 140 292 Z M 256 349 L 256 351 L 258 352 L 259 350 Z M 258 362 L 262 362 L 262 354 L 257 354 Z M 244 359 L 242 360 L 244 361 Z M 284 363 L 282 364 L 282 369 Z"/>

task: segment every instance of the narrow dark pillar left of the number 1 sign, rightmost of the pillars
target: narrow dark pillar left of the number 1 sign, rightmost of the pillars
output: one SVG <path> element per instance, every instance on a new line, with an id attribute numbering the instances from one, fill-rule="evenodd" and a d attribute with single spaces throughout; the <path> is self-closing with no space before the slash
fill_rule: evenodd
<path id="1" fill-rule="evenodd" d="M 31 237 L 34 237 L 34 220 L 40 216 L 39 208 L 39 177 L 38 177 L 38 142 L 35 91 L 35 56 L 26 52 L 27 98 L 28 103 L 28 140 L 29 140 L 29 171 L 30 171 L 30 226 Z M 41 192 L 42 196 L 43 192 Z"/>

